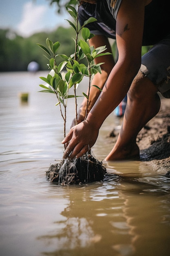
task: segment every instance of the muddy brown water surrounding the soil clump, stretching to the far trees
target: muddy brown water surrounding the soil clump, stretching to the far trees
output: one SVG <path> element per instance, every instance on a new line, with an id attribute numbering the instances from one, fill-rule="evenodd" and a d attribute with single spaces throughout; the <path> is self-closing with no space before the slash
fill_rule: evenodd
<path id="1" fill-rule="evenodd" d="M 103 182 L 56 186 L 45 171 L 63 148 L 62 119 L 39 76 L 0 74 L 0 255 L 168 256 L 170 178 L 141 162 L 104 162 Z M 19 93 L 29 92 L 28 103 Z M 72 104 L 72 103 L 71 103 Z M 68 126 L 71 124 L 71 105 Z M 104 159 L 114 117 L 93 153 Z"/>

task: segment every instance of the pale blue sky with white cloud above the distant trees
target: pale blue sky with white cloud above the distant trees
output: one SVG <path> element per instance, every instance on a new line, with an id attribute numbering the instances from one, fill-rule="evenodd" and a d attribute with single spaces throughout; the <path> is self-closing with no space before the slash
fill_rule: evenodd
<path id="1" fill-rule="evenodd" d="M 23 37 L 40 31 L 52 31 L 58 26 L 68 26 L 64 19 L 70 15 L 64 11 L 58 14 L 56 4 L 49 0 L 1 0 L 0 29 L 10 28 Z"/>

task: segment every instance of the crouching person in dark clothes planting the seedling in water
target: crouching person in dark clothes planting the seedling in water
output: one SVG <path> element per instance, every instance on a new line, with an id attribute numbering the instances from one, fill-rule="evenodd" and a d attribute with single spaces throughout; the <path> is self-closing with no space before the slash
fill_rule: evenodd
<path id="1" fill-rule="evenodd" d="M 91 8 L 104 4 L 103 16 L 112 14 L 110 28 L 116 20 L 116 42 L 119 52 L 97 101 L 85 121 L 73 126 L 62 141 L 67 143 L 64 157 L 80 157 L 97 139 L 99 128 L 128 93 L 124 120 L 117 142 L 106 160 L 139 157 L 136 137 L 141 128 L 160 109 L 157 92 L 170 98 L 170 1 L 97 0 L 87 2 Z M 93 16 L 93 15 L 92 15 Z M 90 44 L 96 47 L 97 35 Z M 104 43 L 104 42 L 102 42 Z M 101 45 L 101 44 L 100 44 Z M 105 45 L 105 44 L 103 44 Z M 141 46 L 154 45 L 141 59 Z M 101 61 L 101 60 L 100 60 Z"/>

